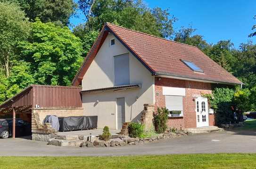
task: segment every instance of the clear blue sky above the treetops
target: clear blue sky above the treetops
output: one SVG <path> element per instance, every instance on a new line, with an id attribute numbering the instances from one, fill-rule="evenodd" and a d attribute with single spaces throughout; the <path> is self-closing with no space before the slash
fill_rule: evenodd
<path id="1" fill-rule="evenodd" d="M 240 43 L 253 40 L 248 38 L 251 27 L 256 24 L 256 0 L 144 0 L 150 8 L 169 8 L 178 21 L 174 29 L 182 26 L 197 29 L 196 34 L 203 35 L 208 43 L 231 39 L 235 47 Z M 83 23 L 83 15 L 71 18 L 71 23 Z"/>

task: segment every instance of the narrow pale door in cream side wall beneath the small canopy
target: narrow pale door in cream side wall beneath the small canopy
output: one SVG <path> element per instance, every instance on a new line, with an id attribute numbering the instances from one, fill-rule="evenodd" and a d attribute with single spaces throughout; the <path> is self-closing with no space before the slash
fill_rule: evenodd
<path id="1" fill-rule="evenodd" d="M 116 98 L 116 129 L 122 129 L 125 122 L 125 99 Z"/>

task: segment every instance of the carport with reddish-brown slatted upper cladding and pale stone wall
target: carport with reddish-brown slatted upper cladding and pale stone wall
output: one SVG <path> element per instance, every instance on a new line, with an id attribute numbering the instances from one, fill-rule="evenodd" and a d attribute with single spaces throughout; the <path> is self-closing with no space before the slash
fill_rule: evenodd
<path id="1" fill-rule="evenodd" d="M 32 123 L 32 132 L 46 133 L 41 123 L 46 115 L 83 115 L 80 91 L 74 86 L 30 85 L 0 105 L 0 118 L 13 118 L 13 138 L 16 118 Z"/>

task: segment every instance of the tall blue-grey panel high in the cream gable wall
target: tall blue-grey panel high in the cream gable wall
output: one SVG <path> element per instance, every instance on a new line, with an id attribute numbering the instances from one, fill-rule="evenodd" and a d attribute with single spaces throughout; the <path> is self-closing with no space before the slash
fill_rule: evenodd
<path id="1" fill-rule="evenodd" d="M 129 54 L 114 56 L 115 86 L 130 84 Z"/>

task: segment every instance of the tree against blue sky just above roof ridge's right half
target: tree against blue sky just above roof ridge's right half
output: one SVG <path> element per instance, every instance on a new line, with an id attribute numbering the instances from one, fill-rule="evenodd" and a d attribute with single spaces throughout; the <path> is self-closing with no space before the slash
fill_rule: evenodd
<path id="1" fill-rule="evenodd" d="M 196 29 L 193 29 L 191 26 L 189 28 L 182 27 L 181 30 L 174 34 L 173 40 L 176 42 L 196 46 L 204 53 L 207 53 L 210 45 L 206 42 L 206 40 L 203 39 L 202 35 L 192 36 L 195 31 Z"/>

